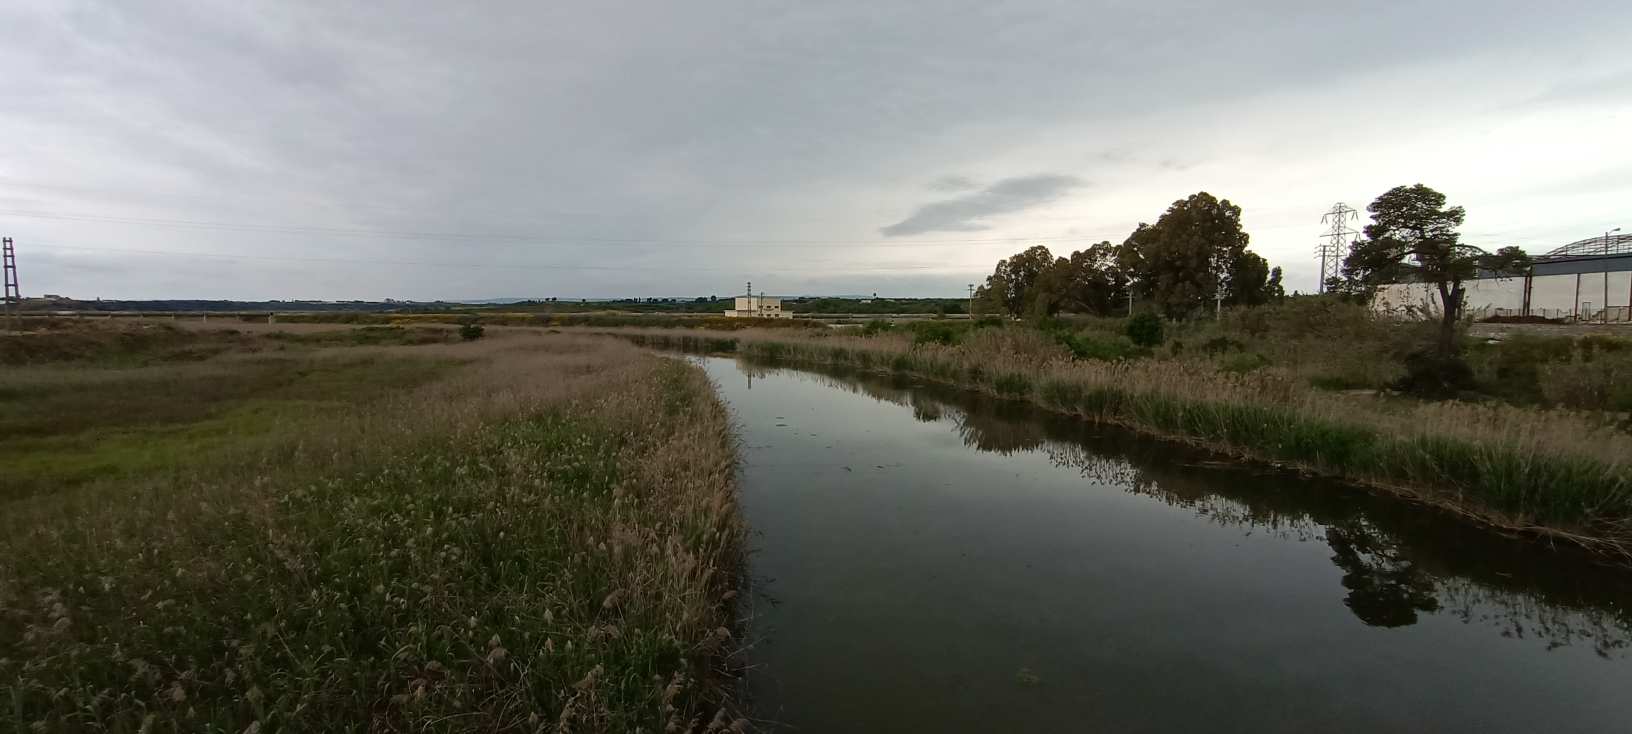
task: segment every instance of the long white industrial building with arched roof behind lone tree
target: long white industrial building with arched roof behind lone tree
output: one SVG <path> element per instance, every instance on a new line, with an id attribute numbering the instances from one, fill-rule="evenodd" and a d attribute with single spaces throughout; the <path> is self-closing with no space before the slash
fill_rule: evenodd
<path id="1" fill-rule="evenodd" d="M 1470 318 L 1542 316 L 1570 321 L 1632 321 L 1632 235 L 1580 240 L 1534 259 L 1524 274 L 1466 281 Z M 1373 308 L 1397 316 L 1439 313 L 1433 284 L 1377 287 Z"/>

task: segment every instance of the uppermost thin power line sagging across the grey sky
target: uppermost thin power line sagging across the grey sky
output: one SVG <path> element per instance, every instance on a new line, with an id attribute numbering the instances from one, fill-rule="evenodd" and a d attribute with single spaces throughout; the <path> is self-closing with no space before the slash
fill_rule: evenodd
<path id="1" fill-rule="evenodd" d="M 459 233 L 459 232 L 423 232 L 423 230 L 369 230 L 344 227 L 308 227 L 277 225 L 253 222 L 214 222 L 193 219 L 157 219 L 157 217 L 113 217 L 90 214 L 0 210 L 0 215 L 44 219 L 59 222 L 95 222 L 124 223 L 142 227 L 173 227 L 188 230 L 225 230 L 225 232 L 268 232 L 281 235 L 331 235 L 331 237 L 380 237 L 397 240 L 452 240 L 452 241 L 514 241 L 534 245 L 605 245 L 605 246 L 951 246 L 951 245 L 1005 245 L 1025 241 L 1079 241 L 1082 237 L 994 237 L 994 238 L 961 238 L 961 240 L 671 240 L 671 238 L 607 238 L 607 237 L 542 237 L 517 233 Z"/>

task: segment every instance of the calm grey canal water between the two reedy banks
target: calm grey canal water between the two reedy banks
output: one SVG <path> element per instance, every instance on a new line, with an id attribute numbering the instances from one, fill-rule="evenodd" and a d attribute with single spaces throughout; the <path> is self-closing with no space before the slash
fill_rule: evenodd
<path id="1" fill-rule="evenodd" d="M 764 724 L 1632 731 L 1632 574 L 1012 401 L 700 364 Z"/>

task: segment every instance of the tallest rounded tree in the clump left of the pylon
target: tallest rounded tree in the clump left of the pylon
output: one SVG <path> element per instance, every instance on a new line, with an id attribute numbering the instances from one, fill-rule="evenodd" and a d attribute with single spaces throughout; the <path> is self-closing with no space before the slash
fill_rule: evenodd
<path id="1" fill-rule="evenodd" d="M 1154 225 L 1141 223 L 1116 250 L 1134 294 L 1170 318 L 1226 303 L 1263 302 L 1268 263 L 1247 251 L 1240 207 L 1206 191 L 1175 201 Z M 1222 290 L 1221 290 L 1222 289 Z"/>

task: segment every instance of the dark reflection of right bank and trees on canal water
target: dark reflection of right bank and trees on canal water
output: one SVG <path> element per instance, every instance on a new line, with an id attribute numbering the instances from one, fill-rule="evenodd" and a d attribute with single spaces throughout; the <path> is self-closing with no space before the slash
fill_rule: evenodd
<path id="1" fill-rule="evenodd" d="M 738 359 L 749 378 L 778 369 Z M 1038 411 L 1023 403 L 850 370 L 792 370 L 836 390 L 945 422 L 965 445 L 1040 452 L 1084 480 L 1195 512 L 1245 535 L 1319 542 L 1342 571 L 1338 600 L 1355 618 L 1402 628 L 1425 617 L 1479 625 L 1546 649 L 1586 644 L 1625 657 L 1632 644 L 1627 574 L 1467 527 L 1423 507 L 1327 481 L 1219 462 L 1182 445 Z"/>

